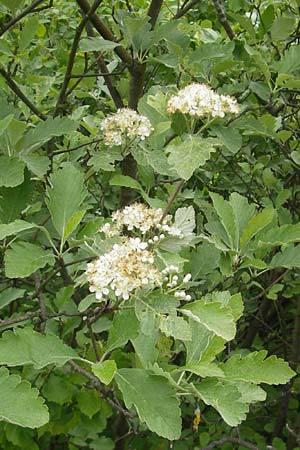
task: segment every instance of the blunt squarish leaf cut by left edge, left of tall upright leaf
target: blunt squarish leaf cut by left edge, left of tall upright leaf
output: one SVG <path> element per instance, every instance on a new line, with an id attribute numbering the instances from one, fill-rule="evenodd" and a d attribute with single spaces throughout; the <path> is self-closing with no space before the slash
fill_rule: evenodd
<path id="1" fill-rule="evenodd" d="M 0 186 L 15 187 L 24 181 L 25 164 L 16 156 L 0 155 Z"/>

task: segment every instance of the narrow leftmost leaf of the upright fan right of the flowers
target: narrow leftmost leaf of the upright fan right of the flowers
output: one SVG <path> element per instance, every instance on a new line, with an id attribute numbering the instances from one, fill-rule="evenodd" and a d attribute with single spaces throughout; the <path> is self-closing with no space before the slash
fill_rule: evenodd
<path id="1" fill-rule="evenodd" d="M 224 200 L 221 195 L 211 192 L 210 197 L 214 208 L 225 228 L 232 249 L 238 249 L 238 228 L 231 204 Z"/>

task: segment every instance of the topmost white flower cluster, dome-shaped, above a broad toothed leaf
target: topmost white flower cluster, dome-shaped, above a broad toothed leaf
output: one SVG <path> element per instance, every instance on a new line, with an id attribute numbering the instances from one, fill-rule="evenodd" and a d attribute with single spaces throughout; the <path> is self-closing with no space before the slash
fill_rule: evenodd
<path id="1" fill-rule="evenodd" d="M 170 98 L 167 111 L 196 117 L 224 117 L 226 113 L 238 114 L 239 106 L 233 97 L 219 95 L 206 84 L 193 83 Z"/>

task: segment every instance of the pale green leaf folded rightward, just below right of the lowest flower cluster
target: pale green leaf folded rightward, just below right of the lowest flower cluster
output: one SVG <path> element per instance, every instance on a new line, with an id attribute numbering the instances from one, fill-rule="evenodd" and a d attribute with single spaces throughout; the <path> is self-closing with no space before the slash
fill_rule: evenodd
<path id="1" fill-rule="evenodd" d="M 236 327 L 231 309 L 219 302 L 204 303 L 203 300 L 197 300 L 185 305 L 180 312 L 227 341 L 235 336 Z"/>

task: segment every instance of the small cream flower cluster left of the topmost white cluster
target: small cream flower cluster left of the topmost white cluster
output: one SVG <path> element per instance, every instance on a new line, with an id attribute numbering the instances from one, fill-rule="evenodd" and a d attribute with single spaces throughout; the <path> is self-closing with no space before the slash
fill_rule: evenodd
<path id="1" fill-rule="evenodd" d="M 153 130 L 149 119 L 130 108 L 121 108 L 106 117 L 100 125 L 106 145 L 122 145 L 140 138 L 144 140 Z"/>

